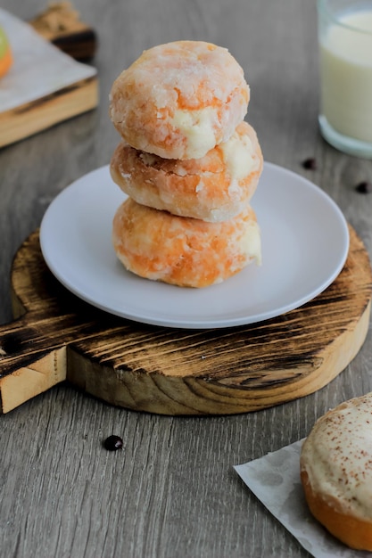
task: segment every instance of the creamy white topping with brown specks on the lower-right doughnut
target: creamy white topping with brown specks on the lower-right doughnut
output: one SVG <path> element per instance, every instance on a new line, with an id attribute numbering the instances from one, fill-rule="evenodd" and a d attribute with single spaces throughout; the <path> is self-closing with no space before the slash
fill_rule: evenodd
<path id="1" fill-rule="evenodd" d="M 322 416 L 301 460 L 313 492 L 336 498 L 344 513 L 372 520 L 372 393 Z"/>

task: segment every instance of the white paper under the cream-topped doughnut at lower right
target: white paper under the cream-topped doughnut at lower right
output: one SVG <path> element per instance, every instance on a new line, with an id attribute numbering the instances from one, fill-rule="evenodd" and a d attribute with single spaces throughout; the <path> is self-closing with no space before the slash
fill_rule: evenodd
<path id="1" fill-rule="evenodd" d="M 300 480 L 302 441 L 234 468 L 269 512 L 315 558 L 371 558 L 372 553 L 351 550 L 338 542 L 311 516 Z"/>

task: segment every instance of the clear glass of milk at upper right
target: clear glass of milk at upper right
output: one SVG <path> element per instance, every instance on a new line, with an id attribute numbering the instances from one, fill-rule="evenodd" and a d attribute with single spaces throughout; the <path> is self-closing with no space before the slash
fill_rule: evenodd
<path id="1" fill-rule="evenodd" d="M 318 40 L 321 134 L 372 159 L 372 0 L 318 0 Z"/>

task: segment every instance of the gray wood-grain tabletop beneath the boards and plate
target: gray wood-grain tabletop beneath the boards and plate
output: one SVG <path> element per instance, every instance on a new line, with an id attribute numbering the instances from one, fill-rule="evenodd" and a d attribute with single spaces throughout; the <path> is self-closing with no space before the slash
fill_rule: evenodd
<path id="1" fill-rule="evenodd" d="M 265 159 L 321 186 L 372 254 L 372 162 L 318 132 L 316 7 L 309 0 L 76 0 L 98 32 L 95 111 L 0 151 L 0 320 L 12 319 L 10 269 L 21 242 L 73 180 L 110 160 L 112 81 L 152 45 L 227 46 L 252 90 L 249 120 Z M 37 0 L 3 0 L 27 20 Z M 314 157 L 316 170 L 302 168 Z M 167 417 L 108 406 L 60 385 L 0 417 L 2 558 L 290 558 L 308 554 L 236 475 L 240 464 L 306 436 L 316 418 L 372 390 L 372 335 L 334 382 L 265 411 Z M 120 452 L 103 449 L 112 432 Z"/>

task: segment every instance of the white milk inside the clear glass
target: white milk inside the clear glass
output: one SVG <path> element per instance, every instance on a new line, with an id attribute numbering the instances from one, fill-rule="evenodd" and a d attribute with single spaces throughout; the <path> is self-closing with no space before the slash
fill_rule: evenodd
<path id="1" fill-rule="evenodd" d="M 321 39 L 321 110 L 335 130 L 372 144 L 372 10 L 340 22 Z"/>

